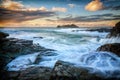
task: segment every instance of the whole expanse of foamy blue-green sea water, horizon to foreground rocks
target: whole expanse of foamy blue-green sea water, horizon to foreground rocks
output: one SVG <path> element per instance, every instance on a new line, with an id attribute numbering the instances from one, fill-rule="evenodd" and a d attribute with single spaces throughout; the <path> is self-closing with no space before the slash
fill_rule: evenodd
<path id="1" fill-rule="evenodd" d="M 106 38 L 108 32 L 87 31 L 87 28 L 4 28 L 9 37 L 33 40 L 45 48 L 55 50 L 57 55 L 42 56 L 42 61 L 34 63 L 37 55 L 21 55 L 7 64 L 9 71 L 18 71 L 30 66 L 53 68 L 56 61 L 74 63 L 76 66 L 92 67 L 107 76 L 120 71 L 120 57 L 110 52 L 97 52 L 96 49 L 105 43 L 120 43 L 118 38 Z M 15 66 L 15 67 L 13 67 Z M 93 71 L 93 72 L 94 72 Z M 109 74 L 108 74 L 109 73 Z M 115 75 L 120 77 L 120 74 Z"/>

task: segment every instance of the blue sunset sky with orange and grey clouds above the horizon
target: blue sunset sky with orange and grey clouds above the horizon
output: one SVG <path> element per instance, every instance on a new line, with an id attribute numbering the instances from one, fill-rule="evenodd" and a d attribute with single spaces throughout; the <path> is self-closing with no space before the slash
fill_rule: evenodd
<path id="1" fill-rule="evenodd" d="M 0 0 L 0 27 L 112 27 L 120 0 Z"/>

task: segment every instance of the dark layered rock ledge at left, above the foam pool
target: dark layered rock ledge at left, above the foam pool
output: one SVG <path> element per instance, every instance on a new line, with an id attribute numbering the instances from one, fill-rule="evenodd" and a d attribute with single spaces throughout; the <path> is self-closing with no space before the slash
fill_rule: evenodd
<path id="1" fill-rule="evenodd" d="M 32 40 L 24 40 L 17 38 L 7 39 L 0 45 L 0 68 L 3 69 L 6 64 L 20 55 L 32 54 L 35 52 L 48 52 L 51 49 L 46 49 L 38 44 L 33 44 Z M 52 50 L 51 50 L 52 51 Z M 42 55 L 42 54 L 41 54 Z M 37 59 L 39 60 L 39 58 Z M 37 63 L 38 61 L 36 61 Z"/>

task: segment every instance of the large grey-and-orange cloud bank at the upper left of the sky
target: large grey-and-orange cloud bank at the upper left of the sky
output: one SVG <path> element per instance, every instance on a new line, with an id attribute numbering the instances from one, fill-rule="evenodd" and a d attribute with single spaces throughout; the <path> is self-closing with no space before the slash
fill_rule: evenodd
<path id="1" fill-rule="evenodd" d="M 20 2 L 3 0 L 0 6 L 0 23 L 22 22 L 56 15 L 44 6 L 40 8 L 25 7 Z"/>

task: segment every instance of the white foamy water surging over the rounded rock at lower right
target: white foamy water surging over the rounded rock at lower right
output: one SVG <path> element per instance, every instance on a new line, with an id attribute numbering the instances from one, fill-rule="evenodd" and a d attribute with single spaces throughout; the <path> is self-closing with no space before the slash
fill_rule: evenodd
<path id="1" fill-rule="evenodd" d="M 100 73 L 105 77 L 120 78 L 120 57 L 113 53 L 92 52 L 81 56 L 80 62 L 84 66 L 92 68 L 92 73 Z"/>

